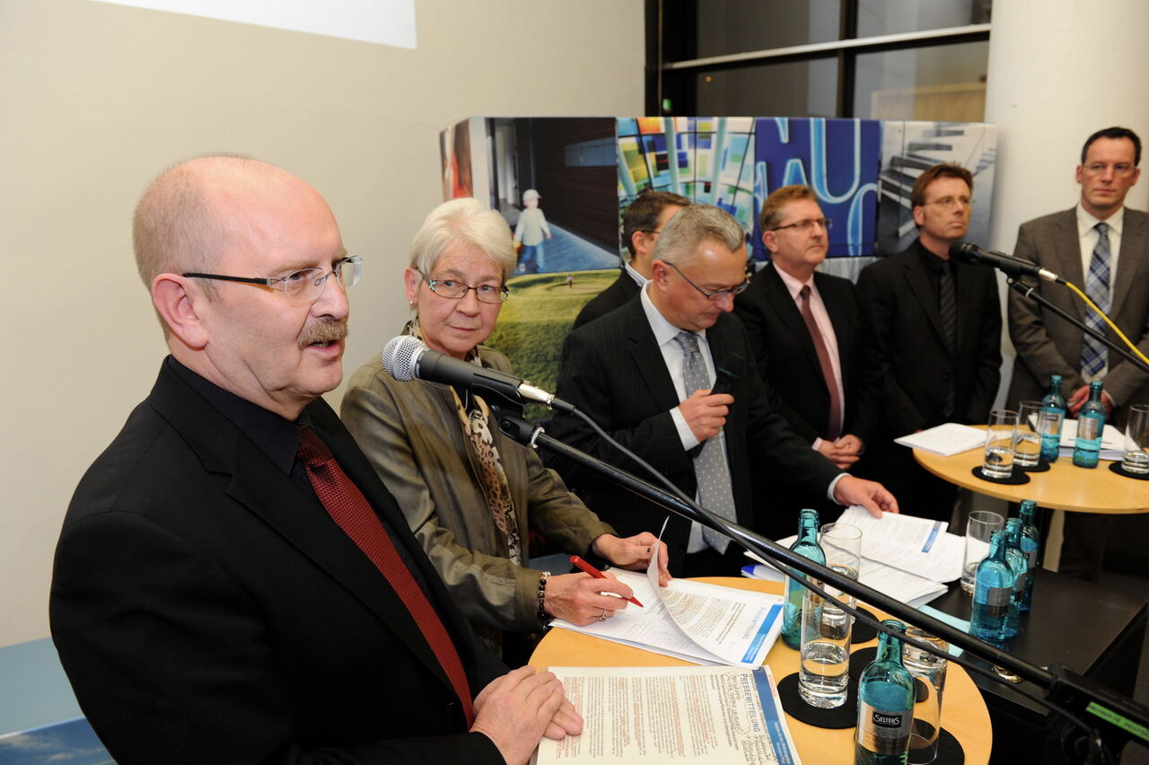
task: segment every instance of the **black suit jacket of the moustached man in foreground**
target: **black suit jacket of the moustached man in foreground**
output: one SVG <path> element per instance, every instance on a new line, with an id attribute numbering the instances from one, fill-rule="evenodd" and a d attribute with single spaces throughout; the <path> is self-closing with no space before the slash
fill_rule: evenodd
<path id="1" fill-rule="evenodd" d="M 316 433 L 426 582 L 477 694 L 498 665 L 322 400 Z M 52 582 L 80 708 L 131 763 L 501 763 L 375 565 L 164 364 L 82 479 Z M 477 666 L 483 660 L 483 667 Z"/>

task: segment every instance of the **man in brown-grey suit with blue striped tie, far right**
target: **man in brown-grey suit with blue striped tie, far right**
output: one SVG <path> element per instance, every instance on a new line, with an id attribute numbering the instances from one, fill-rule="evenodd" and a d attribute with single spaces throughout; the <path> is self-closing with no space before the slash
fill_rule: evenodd
<path id="1" fill-rule="evenodd" d="M 1141 176 L 1141 139 L 1126 128 L 1106 128 L 1086 140 L 1073 208 L 1021 224 L 1013 254 L 1084 288 L 1142 353 L 1149 353 L 1149 215 L 1125 208 Z M 1036 289 L 1090 326 L 1104 323 L 1061 285 Z M 1128 405 L 1149 403 L 1149 377 L 1093 338 L 1017 293 L 1009 296 L 1009 333 L 1017 348 L 1008 401 L 1040 399 L 1050 374 L 1061 374 L 1070 416 L 1089 397 L 1089 382 L 1104 381 L 1109 418 L 1124 427 Z M 1110 338 L 1116 339 L 1112 331 Z M 1101 571 L 1106 516 L 1066 513 L 1061 571 L 1095 580 Z"/>

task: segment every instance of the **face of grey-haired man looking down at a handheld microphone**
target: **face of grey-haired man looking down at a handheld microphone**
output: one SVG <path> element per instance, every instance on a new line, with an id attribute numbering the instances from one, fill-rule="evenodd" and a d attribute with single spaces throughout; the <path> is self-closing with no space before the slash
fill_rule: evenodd
<path id="1" fill-rule="evenodd" d="M 734 296 L 728 292 L 710 300 L 699 289 L 717 292 L 742 284 L 746 280 L 745 244 L 732 250 L 718 240 L 708 239 L 686 257 L 670 260 L 681 272 L 665 261 L 655 261 L 650 287 L 658 291 L 656 306 L 668 322 L 680 330 L 697 332 L 709 330 L 719 316 L 734 309 Z"/>

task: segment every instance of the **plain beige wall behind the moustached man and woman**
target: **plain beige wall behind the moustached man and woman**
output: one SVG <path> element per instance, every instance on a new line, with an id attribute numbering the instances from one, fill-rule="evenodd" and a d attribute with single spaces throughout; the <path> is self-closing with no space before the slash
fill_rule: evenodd
<path id="1" fill-rule="evenodd" d="M 0 646 L 48 634 L 68 500 L 165 353 L 129 223 L 167 164 L 246 153 L 327 198 L 367 258 L 354 369 L 407 315 L 399 273 L 440 201 L 441 128 L 641 114 L 639 0 L 416 0 L 416 22 L 407 51 L 90 0 L 0 0 Z"/>

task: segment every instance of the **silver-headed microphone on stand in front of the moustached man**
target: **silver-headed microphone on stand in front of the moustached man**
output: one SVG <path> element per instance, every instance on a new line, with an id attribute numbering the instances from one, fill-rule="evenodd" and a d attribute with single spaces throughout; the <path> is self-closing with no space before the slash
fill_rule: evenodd
<path id="1" fill-rule="evenodd" d="M 484 397 L 509 401 L 515 405 L 533 401 L 549 409 L 574 411 L 572 404 L 556 399 L 553 393 L 534 387 L 520 377 L 432 350 L 422 340 L 409 334 L 401 334 L 387 342 L 383 349 L 383 368 L 400 382 L 409 382 L 417 378 L 466 388 Z"/>

